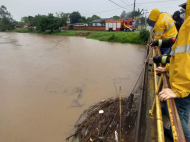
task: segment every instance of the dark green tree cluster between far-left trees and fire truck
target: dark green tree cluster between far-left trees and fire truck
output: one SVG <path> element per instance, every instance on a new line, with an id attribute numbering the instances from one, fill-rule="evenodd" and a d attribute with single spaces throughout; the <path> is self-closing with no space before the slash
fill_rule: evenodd
<path id="1" fill-rule="evenodd" d="M 59 12 L 55 15 L 49 13 L 48 15 L 36 15 L 25 16 L 18 22 L 20 27 L 27 25 L 28 28 L 36 27 L 38 31 L 51 30 L 52 32 L 58 30 L 59 27 L 67 26 L 67 20 L 70 19 L 70 23 L 90 23 L 95 19 L 100 19 L 99 16 L 93 15 L 92 17 L 84 17 L 78 11 L 72 13 Z"/>

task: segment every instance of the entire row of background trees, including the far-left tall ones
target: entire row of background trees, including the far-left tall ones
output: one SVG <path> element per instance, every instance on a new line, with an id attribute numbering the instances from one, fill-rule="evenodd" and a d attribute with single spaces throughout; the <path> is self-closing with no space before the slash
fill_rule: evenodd
<path id="1" fill-rule="evenodd" d="M 111 18 L 114 19 L 128 19 L 134 18 L 142 15 L 142 11 L 139 9 L 133 12 L 123 11 L 120 16 L 113 16 Z M 33 30 L 34 27 L 39 32 L 44 32 L 46 30 L 50 30 L 54 32 L 59 30 L 59 27 L 67 26 L 67 20 L 70 19 L 70 23 L 90 23 L 95 19 L 101 19 L 98 15 L 93 15 L 91 17 L 82 16 L 78 11 L 74 11 L 72 13 L 63 13 L 57 12 L 54 14 L 49 13 L 48 15 L 35 15 L 35 16 L 25 16 L 21 18 L 20 22 L 17 22 L 13 19 L 10 12 L 8 12 L 5 6 L 0 7 L 0 31 L 6 31 L 14 29 L 15 26 L 20 26 L 21 28 L 27 25 L 29 30 Z M 145 21 L 145 18 L 144 20 Z M 105 20 L 102 20 L 102 23 L 105 23 Z"/>

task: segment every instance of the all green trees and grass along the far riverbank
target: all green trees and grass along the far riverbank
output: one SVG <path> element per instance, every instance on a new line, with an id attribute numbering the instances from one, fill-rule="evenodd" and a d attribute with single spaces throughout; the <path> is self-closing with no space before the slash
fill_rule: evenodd
<path id="1" fill-rule="evenodd" d="M 121 16 L 113 16 L 112 18 L 124 18 L 133 17 L 134 15 L 138 16 L 141 12 L 133 11 L 130 13 L 122 12 Z M 35 15 L 35 16 L 25 16 L 21 18 L 20 22 L 17 22 L 13 19 L 10 12 L 8 12 L 5 6 L 0 7 L 0 31 L 11 31 L 11 32 L 20 32 L 20 33 L 41 33 L 41 34 L 53 34 L 61 36 L 86 36 L 89 39 L 96 39 L 100 41 L 107 42 L 120 42 L 120 43 L 135 43 L 135 44 L 146 44 L 149 31 L 143 29 L 140 33 L 134 32 L 89 32 L 89 31 L 59 31 L 59 27 L 64 27 L 67 25 L 67 19 L 70 18 L 71 24 L 74 23 L 91 23 L 95 19 L 101 19 L 97 15 L 92 15 L 91 17 L 84 17 L 78 11 L 72 13 L 63 13 L 56 12 L 56 15 L 49 13 L 48 15 Z M 141 19 L 145 22 L 145 19 Z M 138 20 L 136 21 L 138 24 Z M 102 20 L 102 24 L 105 23 L 105 20 Z M 142 23 L 143 24 L 143 23 Z M 144 23 L 145 24 L 145 23 Z M 24 29 L 23 27 L 27 27 Z M 35 27 L 35 30 L 34 30 Z M 18 28 L 18 29 L 15 29 Z M 20 28 L 20 29 L 19 29 Z"/>

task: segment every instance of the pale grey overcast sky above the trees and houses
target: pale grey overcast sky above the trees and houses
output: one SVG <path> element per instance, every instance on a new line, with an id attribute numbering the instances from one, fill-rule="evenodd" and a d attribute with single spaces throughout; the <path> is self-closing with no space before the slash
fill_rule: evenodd
<path id="1" fill-rule="evenodd" d="M 13 18 L 17 21 L 24 16 L 35 16 L 37 14 L 47 15 L 48 13 L 64 12 L 71 13 L 79 11 L 82 16 L 90 17 L 93 14 L 101 18 L 110 18 L 120 15 L 123 10 L 133 10 L 134 0 L 1 0 L 1 5 L 7 7 Z M 158 8 L 162 12 L 173 14 L 180 10 L 178 5 L 187 0 L 136 0 L 136 8 L 147 9 L 150 12 Z M 125 9 L 124 9 L 125 8 Z M 148 16 L 148 14 L 147 14 Z"/>

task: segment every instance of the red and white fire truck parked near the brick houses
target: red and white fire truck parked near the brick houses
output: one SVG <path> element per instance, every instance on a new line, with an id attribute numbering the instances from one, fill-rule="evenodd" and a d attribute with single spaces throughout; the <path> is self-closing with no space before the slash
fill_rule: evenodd
<path id="1" fill-rule="evenodd" d="M 135 30 L 135 21 L 134 19 L 111 19 L 105 21 L 106 25 L 106 31 L 134 31 Z"/>

